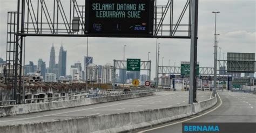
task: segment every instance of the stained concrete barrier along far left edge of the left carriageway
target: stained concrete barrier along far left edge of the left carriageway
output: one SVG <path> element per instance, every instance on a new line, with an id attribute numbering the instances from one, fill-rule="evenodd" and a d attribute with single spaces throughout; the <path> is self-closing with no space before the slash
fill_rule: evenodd
<path id="1" fill-rule="evenodd" d="M 0 115 L 1 116 L 21 115 L 21 114 L 28 114 L 28 113 L 36 113 L 40 111 L 71 108 L 71 107 L 78 107 L 78 106 L 87 106 L 90 104 L 133 99 L 137 97 L 150 96 L 150 95 L 153 95 L 153 92 L 93 97 L 93 98 L 86 98 L 86 99 L 44 102 L 44 103 L 17 104 L 12 106 L 0 107 Z"/>

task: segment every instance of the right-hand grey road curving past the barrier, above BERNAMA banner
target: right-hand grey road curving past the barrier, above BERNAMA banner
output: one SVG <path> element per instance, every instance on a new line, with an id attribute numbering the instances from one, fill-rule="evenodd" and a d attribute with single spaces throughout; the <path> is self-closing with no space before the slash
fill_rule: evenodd
<path id="1" fill-rule="evenodd" d="M 219 92 L 221 102 L 208 114 L 158 125 L 139 132 L 182 132 L 182 122 L 256 122 L 256 96 L 248 93 Z M 191 120 L 190 120 L 191 119 Z"/>

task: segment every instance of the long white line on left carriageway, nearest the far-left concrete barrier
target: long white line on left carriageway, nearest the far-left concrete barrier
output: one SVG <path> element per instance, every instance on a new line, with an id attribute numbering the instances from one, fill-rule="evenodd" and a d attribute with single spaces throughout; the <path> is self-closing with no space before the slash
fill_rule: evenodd
<path id="1" fill-rule="evenodd" d="M 173 95 L 173 94 L 176 94 L 176 93 L 172 93 L 172 94 L 169 94 L 169 95 Z M 158 97 L 163 97 L 163 96 L 167 96 L 167 95 L 160 95 L 160 96 L 156 96 L 156 97 L 150 97 L 150 98 L 147 98 L 147 99 L 137 100 L 137 101 L 133 101 L 133 102 L 144 101 L 144 100 L 149 100 L 149 99 L 156 99 L 156 98 L 158 98 Z M 49 114 L 49 115 L 41 115 L 41 116 L 36 116 L 36 117 L 28 117 L 28 118 L 21 118 L 21 119 L 15 119 L 15 120 L 0 121 L 0 123 L 2 123 L 2 122 L 20 121 L 20 120 L 28 120 L 28 119 L 32 119 L 32 118 L 40 118 L 40 117 L 45 117 L 45 116 L 60 115 L 60 114 L 66 114 L 66 113 L 73 113 L 73 112 L 84 111 L 84 110 L 90 110 L 90 109 L 97 109 L 97 108 L 118 106 L 118 105 L 120 105 L 120 104 L 126 104 L 126 103 L 131 103 L 131 102 L 123 102 L 123 103 L 118 103 L 118 104 L 111 104 L 111 105 L 109 105 L 109 106 L 101 106 L 101 107 L 95 107 L 95 108 L 87 108 L 87 109 L 66 111 L 66 112 L 63 112 L 63 113 L 56 113 L 56 114 Z"/>

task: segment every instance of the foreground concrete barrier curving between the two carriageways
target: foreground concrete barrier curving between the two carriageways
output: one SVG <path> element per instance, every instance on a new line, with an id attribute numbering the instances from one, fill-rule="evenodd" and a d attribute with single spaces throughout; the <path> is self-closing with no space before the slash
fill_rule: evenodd
<path id="1" fill-rule="evenodd" d="M 85 116 L 29 124 L 0 126 L 0 132 L 121 132 L 170 122 L 197 114 L 217 103 L 217 97 L 193 105 Z"/>

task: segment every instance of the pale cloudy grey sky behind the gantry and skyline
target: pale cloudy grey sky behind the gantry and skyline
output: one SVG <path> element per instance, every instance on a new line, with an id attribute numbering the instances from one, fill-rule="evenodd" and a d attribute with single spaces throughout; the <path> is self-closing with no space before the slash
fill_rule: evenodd
<path id="1" fill-rule="evenodd" d="M 46 1 L 49 2 L 50 0 Z M 16 0 L 0 1 L 0 57 L 5 59 L 6 54 L 6 22 L 7 12 L 17 10 Z M 69 1 L 63 0 L 66 4 Z M 177 4 L 176 4 L 177 2 Z M 185 2 L 185 1 L 183 1 Z M 183 2 L 174 0 L 174 17 L 178 17 L 183 9 Z M 167 0 L 158 0 L 158 5 L 164 5 Z M 65 7 L 64 7 L 65 8 Z M 255 0 L 204 0 L 199 1 L 198 16 L 198 61 L 200 67 L 213 67 L 214 64 L 214 14 L 217 15 L 218 46 L 223 52 L 256 52 L 256 1 Z M 167 15 L 166 20 L 169 20 Z M 187 19 L 183 20 L 186 23 Z M 56 61 L 58 61 L 59 48 L 63 44 L 67 51 L 66 72 L 70 74 L 70 65 L 75 62 L 84 64 L 86 55 L 86 38 L 77 37 L 26 37 L 25 64 L 33 61 L 37 64 L 39 58 L 49 67 L 50 50 L 52 43 L 55 46 Z M 181 61 L 190 60 L 190 39 L 158 39 L 160 43 L 159 64 L 164 57 L 164 66 L 180 66 Z M 154 38 L 89 38 L 89 56 L 93 57 L 96 65 L 113 64 L 113 60 L 123 59 L 123 46 L 125 58 L 138 58 L 147 60 L 150 53 L 152 61 L 152 78 L 156 69 L 156 39 Z M 218 51 L 219 52 L 219 51 Z M 218 54 L 219 56 L 219 54 Z M 219 57 L 218 57 L 219 58 Z M 147 72 L 142 72 L 146 74 Z"/>

